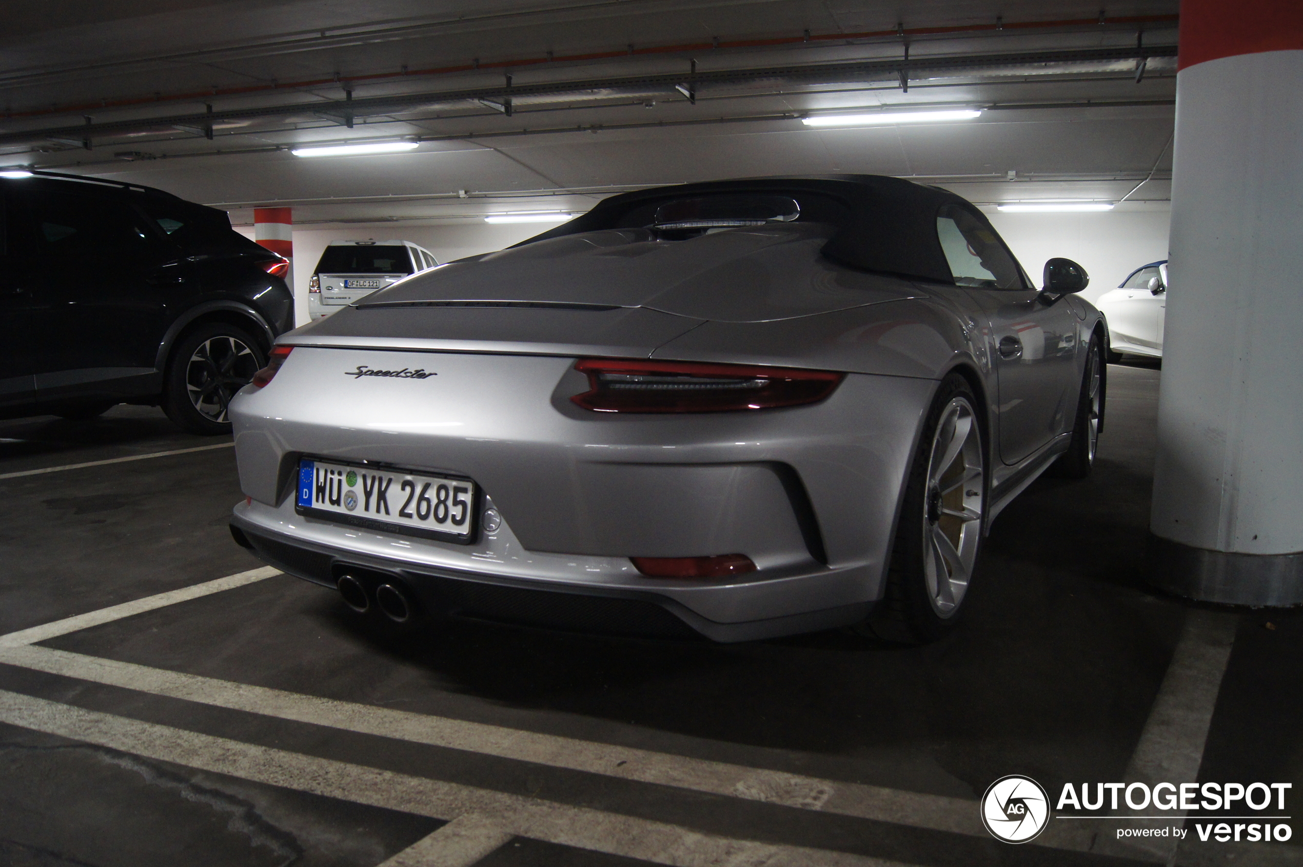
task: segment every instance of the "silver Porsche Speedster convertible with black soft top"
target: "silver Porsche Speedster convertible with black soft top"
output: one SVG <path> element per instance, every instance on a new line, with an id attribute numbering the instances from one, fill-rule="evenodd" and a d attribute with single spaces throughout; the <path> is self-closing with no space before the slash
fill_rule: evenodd
<path id="1" fill-rule="evenodd" d="M 1085 284 L 890 177 L 616 196 L 283 335 L 232 532 L 399 622 L 934 639 L 999 510 L 1091 471 Z"/>

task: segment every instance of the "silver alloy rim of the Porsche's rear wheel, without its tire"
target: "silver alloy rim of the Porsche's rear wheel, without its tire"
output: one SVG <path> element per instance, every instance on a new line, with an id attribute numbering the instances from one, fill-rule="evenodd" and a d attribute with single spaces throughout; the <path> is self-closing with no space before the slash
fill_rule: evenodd
<path id="1" fill-rule="evenodd" d="M 959 610 L 968 591 L 985 484 L 977 416 L 966 398 L 951 398 L 932 439 L 923 522 L 924 581 L 932 610 L 942 619 Z"/>

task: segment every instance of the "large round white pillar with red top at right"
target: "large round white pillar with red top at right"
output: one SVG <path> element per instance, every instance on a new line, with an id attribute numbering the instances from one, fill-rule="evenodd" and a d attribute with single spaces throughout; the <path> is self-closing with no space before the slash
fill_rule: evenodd
<path id="1" fill-rule="evenodd" d="M 1182 0 L 1154 581 L 1303 602 L 1303 3 Z"/>

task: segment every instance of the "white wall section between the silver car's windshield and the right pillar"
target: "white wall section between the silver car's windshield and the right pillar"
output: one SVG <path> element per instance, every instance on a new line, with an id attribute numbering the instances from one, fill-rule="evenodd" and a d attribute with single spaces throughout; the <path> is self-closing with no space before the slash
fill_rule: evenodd
<path id="1" fill-rule="evenodd" d="M 1062 256 L 1091 275 L 1091 286 L 1081 297 L 1092 302 L 1141 265 L 1167 258 L 1171 209 L 1165 206 L 1104 214 L 992 213 L 988 216 L 1036 286 L 1045 259 Z"/>

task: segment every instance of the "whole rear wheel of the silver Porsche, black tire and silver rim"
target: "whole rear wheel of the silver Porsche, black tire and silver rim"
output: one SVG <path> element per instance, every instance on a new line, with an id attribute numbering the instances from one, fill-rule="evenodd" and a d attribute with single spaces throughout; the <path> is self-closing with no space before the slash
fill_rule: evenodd
<path id="1" fill-rule="evenodd" d="M 942 381 L 919 437 L 891 545 L 886 588 L 864 636 L 921 644 L 954 630 L 981 548 L 986 442 L 979 407 L 959 374 Z"/>

